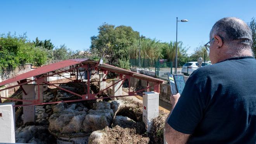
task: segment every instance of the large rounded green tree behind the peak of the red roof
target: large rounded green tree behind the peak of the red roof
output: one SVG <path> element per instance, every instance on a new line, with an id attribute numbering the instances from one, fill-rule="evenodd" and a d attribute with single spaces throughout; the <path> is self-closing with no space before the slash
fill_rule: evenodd
<path id="1" fill-rule="evenodd" d="M 100 25 L 98 36 L 91 37 L 90 51 L 103 57 L 109 64 L 128 69 L 129 48 L 138 39 L 138 32 L 131 27 L 106 24 Z"/>

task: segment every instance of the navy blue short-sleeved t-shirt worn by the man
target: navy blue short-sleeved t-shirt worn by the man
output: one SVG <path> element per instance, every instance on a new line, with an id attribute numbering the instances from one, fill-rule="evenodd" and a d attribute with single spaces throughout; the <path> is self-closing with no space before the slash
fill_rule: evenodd
<path id="1" fill-rule="evenodd" d="M 195 70 L 168 119 L 188 143 L 256 143 L 256 60 L 230 58 Z"/>

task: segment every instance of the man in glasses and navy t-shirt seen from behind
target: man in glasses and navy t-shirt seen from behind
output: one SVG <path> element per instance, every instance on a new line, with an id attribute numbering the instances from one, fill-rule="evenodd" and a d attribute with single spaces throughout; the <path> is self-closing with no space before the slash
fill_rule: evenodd
<path id="1" fill-rule="evenodd" d="M 171 96 L 168 144 L 256 143 L 256 60 L 252 32 L 234 17 L 210 32 L 210 66 L 192 73 L 180 96 Z M 208 44 L 207 43 L 207 44 Z"/>

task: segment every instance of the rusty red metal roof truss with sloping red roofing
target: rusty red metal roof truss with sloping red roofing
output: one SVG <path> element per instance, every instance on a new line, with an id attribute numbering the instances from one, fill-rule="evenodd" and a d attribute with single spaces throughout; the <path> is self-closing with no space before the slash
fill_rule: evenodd
<path id="1" fill-rule="evenodd" d="M 92 70 L 95 70 L 94 73 L 91 74 Z M 83 75 L 81 72 L 83 71 Z M 85 71 L 87 72 L 87 79 L 85 80 Z M 106 76 L 103 78 L 102 81 L 90 81 L 90 77 L 95 75 L 96 73 L 103 73 L 107 75 L 107 73 L 112 72 L 112 73 L 117 73 L 119 76 L 117 76 L 118 81 L 115 83 L 112 83 L 112 85 L 107 86 L 104 90 L 100 90 L 98 93 L 93 94 L 90 93 L 90 83 L 92 82 L 102 82 L 102 81 L 108 81 L 106 80 Z M 62 73 L 67 73 L 70 74 L 71 76 L 74 76 L 75 80 L 72 78 L 67 78 L 66 76 L 61 75 Z M 91 74 L 91 75 L 90 75 Z M 83 83 L 87 85 L 87 90 L 86 87 L 84 86 L 84 94 L 80 95 L 78 93 L 75 93 L 73 91 L 67 90 L 65 88 L 62 88 L 61 86 L 57 86 L 56 84 L 62 84 L 62 83 L 51 83 L 50 81 L 47 81 L 46 79 L 50 76 L 62 76 L 68 80 L 71 80 L 72 83 Z M 80 78 L 79 78 L 80 76 Z M 29 80 L 28 78 L 34 77 L 34 80 Z M 138 78 L 140 80 L 145 80 L 147 81 L 147 87 L 143 88 L 141 90 L 137 91 L 130 91 L 130 80 L 131 77 Z M 3 88 L 0 91 L 3 90 L 8 90 L 10 88 L 14 88 L 17 86 L 20 86 L 21 90 L 23 93 L 26 95 L 28 91 L 25 91 L 22 88 L 22 85 L 26 85 L 32 82 L 36 82 L 36 85 L 38 85 L 38 97 L 35 100 L 22 100 L 22 99 L 17 99 L 17 98 L 6 98 L 6 97 L 0 97 L 0 103 L 1 103 L 1 98 L 7 99 L 7 100 L 14 100 L 14 101 L 21 101 L 21 102 L 27 102 L 29 104 L 26 105 L 16 105 L 16 107 L 19 106 L 27 106 L 27 105 L 43 105 L 43 104 L 52 104 L 52 103 L 61 103 L 61 102 L 78 102 L 82 100 L 94 100 L 94 99 L 99 99 L 99 98 L 112 98 L 112 97 L 100 97 L 100 93 L 103 91 L 107 90 L 113 85 L 116 85 L 120 81 L 122 81 L 121 85 L 125 82 L 125 80 L 128 80 L 128 87 L 129 87 L 129 92 L 128 95 L 121 95 L 121 96 L 116 96 L 116 97 L 127 97 L 127 96 L 133 96 L 133 95 L 141 95 L 140 92 L 147 90 L 149 91 L 149 88 L 154 87 L 154 91 L 160 92 L 160 83 L 163 83 L 163 80 L 159 80 L 157 78 L 152 78 L 150 76 L 145 76 L 139 73 L 135 73 L 132 71 L 128 71 L 126 69 L 121 69 L 117 68 L 108 64 L 99 64 L 99 62 L 92 61 L 90 59 L 69 59 L 66 61 L 61 61 L 58 63 L 54 64 L 49 64 L 46 66 L 42 66 L 40 68 L 37 68 L 35 70 L 29 71 L 27 73 L 18 75 L 14 78 L 11 78 L 9 80 L 3 81 L 0 83 L 0 86 L 7 85 L 9 83 L 17 82 L 17 85 L 14 86 L 9 86 L 7 88 Z M 149 86 L 149 82 L 151 83 L 151 86 Z M 42 84 L 47 84 L 50 86 L 54 86 L 56 88 L 59 88 L 63 91 L 66 91 L 68 93 L 71 93 L 73 95 L 78 96 L 77 100 L 65 100 L 65 101 L 57 101 L 57 102 L 40 102 L 40 86 Z M 120 88 L 121 86 L 119 86 Z M 41 96 L 42 97 L 42 96 Z"/>

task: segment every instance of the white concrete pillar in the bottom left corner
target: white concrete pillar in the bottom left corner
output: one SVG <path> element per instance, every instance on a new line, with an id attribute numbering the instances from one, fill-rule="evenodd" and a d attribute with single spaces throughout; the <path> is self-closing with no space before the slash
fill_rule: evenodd
<path id="1" fill-rule="evenodd" d="M 0 142 L 15 143 L 14 102 L 0 103 Z"/>

